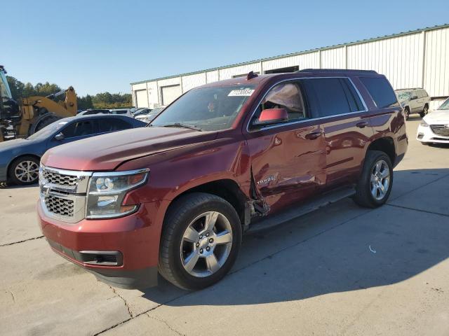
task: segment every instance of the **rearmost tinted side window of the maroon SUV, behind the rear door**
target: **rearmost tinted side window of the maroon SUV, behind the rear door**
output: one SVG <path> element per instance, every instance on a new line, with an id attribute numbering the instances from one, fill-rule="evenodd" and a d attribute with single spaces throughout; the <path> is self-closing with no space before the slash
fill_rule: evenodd
<path id="1" fill-rule="evenodd" d="M 398 99 L 391 88 L 387 78 L 384 77 L 361 77 L 363 85 L 370 92 L 377 108 L 398 106 Z"/>

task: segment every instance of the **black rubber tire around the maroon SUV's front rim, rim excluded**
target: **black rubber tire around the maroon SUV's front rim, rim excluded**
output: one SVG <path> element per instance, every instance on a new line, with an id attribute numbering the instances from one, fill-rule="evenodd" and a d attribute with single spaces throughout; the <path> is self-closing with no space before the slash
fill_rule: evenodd
<path id="1" fill-rule="evenodd" d="M 218 211 L 232 228 L 232 247 L 227 260 L 215 273 L 193 276 L 182 265 L 180 255 L 182 236 L 195 218 L 206 211 Z M 207 193 L 192 193 L 180 197 L 170 205 L 164 219 L 159 248 L 159 273 L 175 286 L 186 290 L 199 290 L 213 285 L 229 272 L 237 258 L 241 245 L 242 229 L 234 207 L 221 197 Z"/>

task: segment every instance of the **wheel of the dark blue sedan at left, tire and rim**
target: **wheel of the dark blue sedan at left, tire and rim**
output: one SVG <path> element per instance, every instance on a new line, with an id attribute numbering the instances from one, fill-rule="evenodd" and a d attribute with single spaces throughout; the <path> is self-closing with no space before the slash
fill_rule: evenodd
<path id="1" fill-rule="evenodd" d="M 39 179 L 39 159 L 34 156 L 22 156 L 9 166 L 8 176 L 11 182 L 26 186 Z"/>

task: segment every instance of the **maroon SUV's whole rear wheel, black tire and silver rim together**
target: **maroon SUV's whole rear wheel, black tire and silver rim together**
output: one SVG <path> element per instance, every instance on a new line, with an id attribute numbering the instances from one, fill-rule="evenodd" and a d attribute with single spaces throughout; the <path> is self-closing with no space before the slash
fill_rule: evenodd
<path id="1" fill-rule="evenodd" d="M 393 165 L 389 156 L 381 151 L 368 151 L 354 201 L 362 207 L 380 207 L 387 202 L 392 186 Z"/>

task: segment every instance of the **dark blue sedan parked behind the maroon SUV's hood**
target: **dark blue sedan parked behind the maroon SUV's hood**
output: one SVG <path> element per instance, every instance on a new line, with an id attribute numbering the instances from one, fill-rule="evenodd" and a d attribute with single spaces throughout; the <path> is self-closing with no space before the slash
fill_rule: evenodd
<path id="1" fill-rule="evenodd" d="M 0 143 L 0 181 L 19 185 L 36 183 L 39 161 L 49 148 L 98 134 L 145 125 L 147 124 L 126 116 L 76 116 L 58 120 L 27 139 Z"/>

